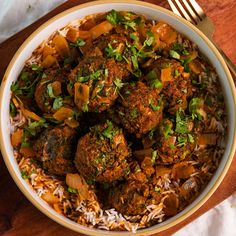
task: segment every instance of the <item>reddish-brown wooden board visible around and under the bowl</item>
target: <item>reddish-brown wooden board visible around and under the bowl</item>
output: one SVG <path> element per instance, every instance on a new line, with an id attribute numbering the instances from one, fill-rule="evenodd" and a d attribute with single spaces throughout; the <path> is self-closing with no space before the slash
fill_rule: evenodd
<path id="1" fill-rule="evenodd" d="M 36 21 L 26 29 L 17 33 L 0 45 L 0 78 L 3 77 L 6 67 L 16 50 L 24 40 L 42 23 L 54 15 L 75 5 L 89 2 L 89 0 L 69 0 L 63 5 Z M 167 1 L 147 0 L 145 2 L 155 3 L 169 8 Z M 225 53 L 236 63 L 236 1 L 235 0 L 198 0 L 207 15 L 213 20 L 216 32 L 215 41 Z M 224 181 L 213 194 L 213 196 L 192 216 L 184 222 L 166 230 L 160 235 L 171 235 L 198 216 L 202 215 L 236 191 L 236 157 L 228 171 Z M 222 222 L 223 223 L 223 222 Z M 39 210 L 37 210 L 20 192 L 9 175 L 6 166 L 0 156 L 0 235 L 4 236 L 72 236 L 80 235 L 59 224 L 53 222 Z"/>

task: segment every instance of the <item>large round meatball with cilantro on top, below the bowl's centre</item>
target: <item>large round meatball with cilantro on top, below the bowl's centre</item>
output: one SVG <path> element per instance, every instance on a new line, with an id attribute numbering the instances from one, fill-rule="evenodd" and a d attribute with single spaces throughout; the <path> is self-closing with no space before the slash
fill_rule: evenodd
<path id="1" fill-rule="evenodd" d="M 112 182 L 127 172 L 129 155 L 122 130 L 108 121 L 79 139 L 75 165 L 87 181 Z"/>

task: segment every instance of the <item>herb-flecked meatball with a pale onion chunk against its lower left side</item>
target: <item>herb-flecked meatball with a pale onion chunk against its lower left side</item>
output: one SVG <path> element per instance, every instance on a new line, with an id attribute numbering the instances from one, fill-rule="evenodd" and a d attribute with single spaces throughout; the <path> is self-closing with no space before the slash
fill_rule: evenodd
<path id="1" fill-rule="evenodd" d="M 118 97 L 117 81 L 128 75 L 124 63 L 102 56 L 86 57 L 69 75 L 72 83 L 84 84 L 89 90 L 88 99 L 82 105 L 76 105 L 82 111 L 107 110 Z"/>

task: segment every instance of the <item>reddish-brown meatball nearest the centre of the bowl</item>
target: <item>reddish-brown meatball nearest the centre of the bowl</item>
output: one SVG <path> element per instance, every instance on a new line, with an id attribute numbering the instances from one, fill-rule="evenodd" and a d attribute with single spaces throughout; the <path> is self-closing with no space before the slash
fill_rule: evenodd
<path id="1" fill-rule="evenodd" d="M 162 120 L 163 103 L 157 89 L 143 82 L 129 85 L 122 91 L 118 116 L 124 128 L 137 138 L 155 128 Z"/>

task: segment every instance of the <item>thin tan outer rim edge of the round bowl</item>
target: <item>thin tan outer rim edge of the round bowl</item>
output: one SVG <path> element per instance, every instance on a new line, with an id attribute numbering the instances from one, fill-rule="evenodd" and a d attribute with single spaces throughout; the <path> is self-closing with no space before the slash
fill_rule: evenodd
<path id="1" fill-rule="evenodd" d="M 152 4 L 152 3 L 147 3 L 147 2 L 142 2 L 142 1 L 136 1 L 136 0 L 97 0 L 97 1 L 91 1 L 91 2 L 87 2 L 87 3 L 83 3 L 77 6 L 74 6 L 72 8 L 69 8 L 65 11 L 62 11 L 61 13 L 55 15 L 54 17 L 52 17 L 51 19 L 47 20 L 45 23 L 43 23 L 42 25 L 40 25 L 40 27 L 38 27 L 33 33 L 30 34 L 30 36 L 24 41 L 24 43 L 20 46 L 20 48 L 17 50 L 17 52 L 14 54 L 13 58 L 11 59 L 5 74 L 3 76 L 2 79 L 2 83 L 1 83 L 1 88 L 0 88 L 0 101 L 2 100 L 4 91 L 5 91 L 5 85 L 6 85 L 6 81 L 7 78 L 9 77 L 9 73 L 12 69 L 12 67 L 14 66 L 18 56 L 21 54 L 21 52 L 25 49 L 25 47 L 28 45 L 28 43 L 37 35 L 39 34 L 45 27 L 47 27 L 48 25 L 50 25 L 51 23 L 53 23 L 54 21 L 56 21 L 57 19 L 70 14 L 74 11 L 80 10 L 82 8 L 86 8 L 86 7 L 91 7 L 91 6 L 97 6 L 97 5 L 103 5 L 103 4 L 109 4 L 109 3 L 128 3 L 128 4 L 134 4 L 134 5 L 139 5 L 139 6 L 144 6 L 144 7 L 149 7 L 149 8 L 153 8 L 154 10 L 158 10 L 158 11 L 162 11 L 165 14 L 178 19 L 181 24 L 187 25 L 187 27 L 191 28 L 191 30 L 195 31 L 202 39 L 203 41 L 207 44 L 207 46 L 212 50 L 212 52 L 215 54 L 215 56 L 217 57 L 217 60 L 219 60 L 225 74 L 227 75 L 227 80 L 228 80 L 228 84 L 230 86 L 231 89 L 231 94 L 232 94 L 232 98 L 233 98 L 233 103 L 234 103 L 234 107 L 236 107 L 236 89 L 235 89 L 235 84 L 234 81 L 232 79 L 232 76 L 228 70 L 228 67 L 223 59 L 223 57 L 221 56 L 221 54 L 218 52 L 218 50 L 216 49 L 216 47 L 213 45 L 213 43 L 199 30 L 197 29 L 194 25 L 192 25 L 190 22 L 188 22 L 187 20 L 183 19 L 182 17 L 179 17 L 178 15 L 174 14 L 173 12 L 160 7 L 158 5 Z M 1 128 L 1 127 L 0 127 Z M 216 189 L 219 187 L 220 183 L 222 182 L 223 178 L 225 177 L 230 164 L 233 160 L 234 157 L 234 153 L 236 150 L 236 127 L 234 125 L 234 135 L 232 137 L 232 145 L 230 147 L 230 154 L 228 156 L 228 159 L 225 163 L 225 166 L 222 169 L 222 172 L 219 174 L 218 178 L 215 180 L 215 182 L 212 184 L 211 188 L 209 189 L 208 193 L 205 194 L 205 196 L 202 197 L 202 199 L 200 199 L 199 202 L 197 202 L 191 209 L 189 209 L 188 211 L 186 211 L 184 214 L 180 215 L 177 219 L 173 220 L 172 222 L 169 222 L 165 225 L 159 226 L 154 228 L 155 226 L 152 226 L 151 228 L 145 228 L 145 229 L 141 229 L 138 230 L 137 233 L 135 233 L 135 235 L 150 235 L 150 234 L 154 234 L 154 233 L 158 233 L 158 232 L 162 232 L 164 230 L 169 229 L 170 227 L 173 227 L 175 225 L 177 225 L 178 223 L 182 222 L 183 220 L 185 220 L 187 217 L 189 217 L 190 215 L 192 215 L 194 212 L 196 212 L 211 196 L 212 194 L 216 191 Z M 95 228 L 89 228 L 89 227 L 85 227 L 82 226 L 80 224 L 78 224 L 78 226 L 76 225 L 72 225 L 69 224 L 66 220 L 62 220 L 60 217 L 58 217 L 56 214 L 53 214 L 52 212 L 50 212 L 49 210 L 47 210 L 45 207 L 43 207 L 38 200 L 36 200 L 31 194 L 30 192 L 21 184 L 21 182 L 18 179 L 18 176 L 15 173 L 15 170 L 13 168 L 13 166 L 11 165 L 11 162 L 8 158 L 7 155 L 7 150 L 4 146 L 4 142 L 3 142 L 3 134 L 2 134 L 2 129 L 0 131 L 0 146 L 1 146 L 1 152 L 2 152 L 2 156 L 4 159 L 4 162 L 7 166 L 7 169 L 11 175 L 11 177 L 13 178 L 14 182 L 16 183 L 16 185 L 18 186 L 18 188 L 20 189 L 20 191 L 25 195 L 25 197 L 35 206 L 37 207 L 38 210 L 40 210 L 44 215 L 46 215 L 47 217 L 49 217 L 50 219 L 52 219 L 53 221 L 59 223 L 60 225 L 69 228 L 71 230 L 74 230 L 76 232 L 80 232 L 83 234 L 90 234 L 90 235 L 129 235 L 131 234 L 131 232 L 121 232 L 121 231 L 104 231 L 104 230 L 98 230 Z M 65 218 L 66 219 L 66 218 Z M 133 233 L 132 233 L 133 234 Z"/>

